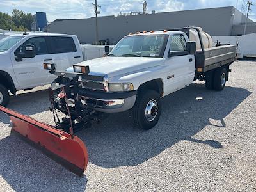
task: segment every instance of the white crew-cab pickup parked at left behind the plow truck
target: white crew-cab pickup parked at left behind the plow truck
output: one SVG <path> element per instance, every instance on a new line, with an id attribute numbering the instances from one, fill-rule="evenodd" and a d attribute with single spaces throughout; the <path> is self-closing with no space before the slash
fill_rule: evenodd
<path id="1" fill-rule="evenodd" d="M 58 70 L 103 56 L 104 46 L 80 45 L 77 36 L 23 33 L 0 40 L 0 105 L 9 102 L 9 92 L 51 84 L 54 76 L 42 66 L 56 63 Z"/>

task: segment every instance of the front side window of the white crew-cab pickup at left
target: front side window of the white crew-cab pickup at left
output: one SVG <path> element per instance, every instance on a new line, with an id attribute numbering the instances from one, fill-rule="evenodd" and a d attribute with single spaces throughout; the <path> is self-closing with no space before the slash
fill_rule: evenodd
<path id="1" fill-rule="evenodd" d="M 15 56 L 18 52 L 25 52 L 25 45 L 34 45 L 36 55 L 49 54 L 47 45 L 44 37 L 33 37 L 26 40 L 20 47 L 15 51 Z"/>

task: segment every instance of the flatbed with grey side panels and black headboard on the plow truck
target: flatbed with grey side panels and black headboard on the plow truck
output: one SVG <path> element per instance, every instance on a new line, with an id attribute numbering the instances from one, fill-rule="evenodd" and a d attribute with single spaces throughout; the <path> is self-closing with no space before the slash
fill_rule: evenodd
<path id="1" fill-rule="evenodd" d="M 195 29 L 195 31 L 197 31 L 201 44 L 201 49 L 196 50 L 195 54 L 197 72 L 207 72 L 208 70 L 212 70 L 222 65 L 231 64 L 236 60 L 236 45 L 223 45 L 220 47 L 211 47 L 204 49 L 201 32 L 195 26 L 170 30 L 182 31 L 186 33 L 189 38 L 190 29 Z"/>

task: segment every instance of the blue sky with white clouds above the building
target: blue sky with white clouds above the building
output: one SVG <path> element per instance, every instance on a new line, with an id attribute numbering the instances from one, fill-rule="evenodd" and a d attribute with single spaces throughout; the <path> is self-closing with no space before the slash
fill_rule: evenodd
<path id="1" fill-rule="evenodd" d="M 37 11 L 46 12 L 50 22 L 59 18 L 80 19 L 94 16 L 93 2 L 94 0 L 0 0 L 0 12 L 11 13 L 13 8 L 33 14 Z M 147 10 L 169 12 L 218 6 L 237 6 L 241 10 L 242 2 L 243 0 L 147 0 Z M 252 3 L 256 5 L 256 0 Z M 98 4 L 101 5 L 100 16 L 117 15 L 119 12 L 141 12 L 143 0 L 98 0 Z M 250 18 L 256 21 L 256 6 L 252 6 Z"/>

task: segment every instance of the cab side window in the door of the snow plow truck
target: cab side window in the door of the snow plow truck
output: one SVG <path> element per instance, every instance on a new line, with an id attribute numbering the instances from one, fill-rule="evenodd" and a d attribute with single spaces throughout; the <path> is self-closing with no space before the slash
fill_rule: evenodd
<path id="1" fill-rule="evenodd" d="M 186 51 L 186 48 L 186 40 L 182 34 L 172 36 L 170 51 Z"/>

